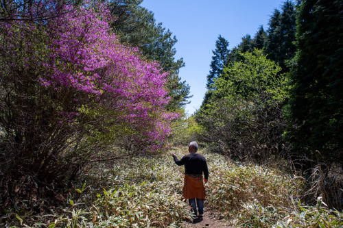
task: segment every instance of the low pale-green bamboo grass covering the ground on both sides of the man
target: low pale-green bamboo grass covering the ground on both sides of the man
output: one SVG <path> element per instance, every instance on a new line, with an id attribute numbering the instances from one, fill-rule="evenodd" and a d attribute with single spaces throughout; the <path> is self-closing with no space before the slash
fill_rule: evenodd
<path id="1" fill-rule="evenodd" d="M 173 147 L 178 157 L 186 147 Z M 321 198 L 315 206 L 298 199 L 301 177 L 280 170 L 239 164 L 222 155 L 202 153 L 209 165 L 206 205 L 222 213 L 233 227 L 343 227 L 343 214 L 329 210 Z M 182 201 L 184 168 L 169 151 L 97 164 L 83 173 L 64 203 L 34 209 L 5 210 L 1 227 L 182 227 L 191 221 Z M 49 203 L 48 203 L 49 204 Z"/>

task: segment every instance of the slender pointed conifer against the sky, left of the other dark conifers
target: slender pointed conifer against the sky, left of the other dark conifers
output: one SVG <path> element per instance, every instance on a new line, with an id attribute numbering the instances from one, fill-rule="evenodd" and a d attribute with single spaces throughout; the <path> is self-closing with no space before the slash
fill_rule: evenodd
<path id="1" fill-rule="evenodd" d="M 207 75 L 206 87 L 208 89 L 211 89 L 211 85 L 214 84 L 214 79 L 223 73 L 223 68 L 226 64 L 226 58 L 229 52 L 228 41 L 222 36 L 219 36 L 217 41 L 215 41 L 215 51 L 212 51 L 211 71 L 209 75 Z"/>

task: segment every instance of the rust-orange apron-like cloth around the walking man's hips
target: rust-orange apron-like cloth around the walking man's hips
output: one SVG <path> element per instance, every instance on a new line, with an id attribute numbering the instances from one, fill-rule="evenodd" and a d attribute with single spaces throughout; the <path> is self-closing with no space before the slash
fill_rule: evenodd
<path id="1" fill-rule="evenodd" d="M 202 183 L 202 175 L 185 175 L 185 185 L 183 186 L 183 198 L 185 199 L 205 199 L 205 188 Z"/>

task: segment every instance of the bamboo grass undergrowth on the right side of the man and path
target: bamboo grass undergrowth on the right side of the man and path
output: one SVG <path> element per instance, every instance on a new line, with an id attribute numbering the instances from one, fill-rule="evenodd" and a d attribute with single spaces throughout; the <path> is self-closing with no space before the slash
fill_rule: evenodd
<path id="1" fill-rule="evenodd" d="M 317 199 L 316 206 L 298 201 L 305 180 L 265 166 L 242 165 L 221 155 L 205 154 L 210 182 L 207 201 L 223 212 L 234 227 L 341 227 L 343 214 L 329 210 Z"/>

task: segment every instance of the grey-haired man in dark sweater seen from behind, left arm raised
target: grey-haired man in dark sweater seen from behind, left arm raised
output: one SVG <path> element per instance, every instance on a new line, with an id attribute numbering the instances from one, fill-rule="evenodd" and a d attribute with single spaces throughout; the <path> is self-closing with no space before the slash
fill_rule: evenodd
<path id="1" fill-rule="evenodd" d="M 204 183 L 207 183 L 207 180 L 209 179 L 209 170 L 205 157 L 197 153 L 197 142 L 190 142 L 188 151 L 189 154 L 182 157 L 181 160 L 178 160 L 178 157 L 176 157 L 173 152 L 171 152 L 171 156 L 173 156 L 174 162 L 178 166 L 185 165 L 183 197 L 189 199 L 193 218 L 196 219 L 198 216 L 204 216 L 204 199 L 206 197 Z M 202 182 L 202 173 L 204 173 L 204 183 Z"/>

